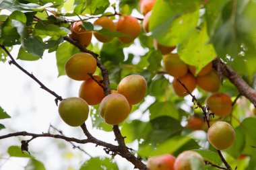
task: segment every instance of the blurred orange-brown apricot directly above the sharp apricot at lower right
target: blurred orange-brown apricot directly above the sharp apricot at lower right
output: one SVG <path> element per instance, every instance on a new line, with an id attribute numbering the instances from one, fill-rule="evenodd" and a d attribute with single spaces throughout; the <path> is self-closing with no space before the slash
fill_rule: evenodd
<path id="1" fill-rule="evenodd" d="M 207 105 L 218 116 L 227 116 L 232 112 L 232 100 L 226 93 L 215 93 L 207 97 Z"/>

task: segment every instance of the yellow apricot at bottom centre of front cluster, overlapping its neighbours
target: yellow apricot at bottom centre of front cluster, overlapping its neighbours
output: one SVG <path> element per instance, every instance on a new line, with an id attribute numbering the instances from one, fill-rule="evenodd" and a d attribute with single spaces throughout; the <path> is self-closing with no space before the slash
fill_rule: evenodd
<path id="1" fill-rule="evenodd" d="M 107 124 L 120 124 L 129 115 L 129 102 L 125 96 L 113 93 L 102 99 L 99 112 Z"/>

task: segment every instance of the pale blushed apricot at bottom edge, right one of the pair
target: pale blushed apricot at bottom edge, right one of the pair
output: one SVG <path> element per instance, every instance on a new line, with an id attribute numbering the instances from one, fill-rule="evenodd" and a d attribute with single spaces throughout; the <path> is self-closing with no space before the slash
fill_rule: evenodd
<path id="1" fill-rule="evenodd" d="M 194 162 L 199 164 L 199 167 L 204 167 L 203 157 L 195 151 L 184 151 L 180 153 L 174 163 L 175 170 L 193 170 Z M 197 165 L 198 165 L 197 164 Z M 197 169 L 202 170 L 202 169 Z"/>

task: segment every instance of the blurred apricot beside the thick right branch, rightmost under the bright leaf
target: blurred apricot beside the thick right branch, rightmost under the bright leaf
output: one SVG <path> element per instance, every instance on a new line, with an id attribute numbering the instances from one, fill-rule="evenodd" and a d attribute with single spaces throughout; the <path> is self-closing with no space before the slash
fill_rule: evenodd
<path id="1" fill-rule="evenodd" d="M 220 79 L 216 71 L 212 70 L 207 75 L 197 76 L 197 85 L 208 92 L 216 92 L 220 89 Z"/>

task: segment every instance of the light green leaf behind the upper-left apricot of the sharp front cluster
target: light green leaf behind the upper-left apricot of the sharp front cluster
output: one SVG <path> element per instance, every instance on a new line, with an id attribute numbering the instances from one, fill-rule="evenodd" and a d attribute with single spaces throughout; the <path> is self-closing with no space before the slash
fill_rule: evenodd
<path id="1" fill-rule="evenodd" d="M 70 44 L 69 42 L 63 42 L 56 51 L 57 67 L 59 76 L 65 75 L 65 63 L 73 56 L 73 54 L 79 52 L 79 49 Z"/>

